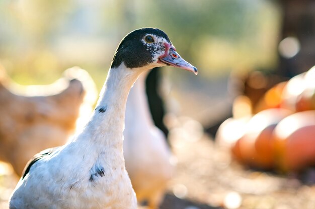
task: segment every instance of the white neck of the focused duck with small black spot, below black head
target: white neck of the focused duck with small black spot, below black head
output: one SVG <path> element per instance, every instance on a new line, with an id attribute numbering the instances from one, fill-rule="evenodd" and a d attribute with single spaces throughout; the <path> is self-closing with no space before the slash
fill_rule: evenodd
<path id="1" fill-rule="evenodd" d="M 95 111 L 84 129 L 84 133 L 90 135 L 89 140 L 92 140 L 89 143 L 103 148 L 112 146 L 122 149 L 128 93 L 142 71 L 126 68 L 124 64 L 109 70 Z"/>

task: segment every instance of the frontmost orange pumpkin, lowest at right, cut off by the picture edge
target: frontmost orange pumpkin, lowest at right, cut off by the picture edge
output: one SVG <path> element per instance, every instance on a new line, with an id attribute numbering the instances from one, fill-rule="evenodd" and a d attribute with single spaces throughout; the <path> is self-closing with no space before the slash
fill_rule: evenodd
<path id="1" fill-rule="evenodd" d="M 277 164 L 282 171 L 315 165 L 315 111 L 294 113 L 274 130 Z"/>

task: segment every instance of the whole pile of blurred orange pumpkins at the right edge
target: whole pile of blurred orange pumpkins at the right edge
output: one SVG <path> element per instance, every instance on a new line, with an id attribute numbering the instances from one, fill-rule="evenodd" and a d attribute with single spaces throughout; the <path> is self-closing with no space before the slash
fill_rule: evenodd
<path id="1" fill-rule="evenodd" d="M 242 96 L 233 105 L 249 104 Z M 315 66 L 276 84 L 250 109 L 251 115 L 223 122 L 216 135 L 235 159 L 281 172 L 315 166 Z"/>

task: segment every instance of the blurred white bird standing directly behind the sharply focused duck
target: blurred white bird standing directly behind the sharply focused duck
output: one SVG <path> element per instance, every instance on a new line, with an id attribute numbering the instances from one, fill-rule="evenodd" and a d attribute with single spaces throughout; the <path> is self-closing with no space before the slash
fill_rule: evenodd
<path id="1" fill-rule="evenodd" d="M 149 111 L 145 94 L 146 77 L 147 72 L 142 73 L 128 95 L 123 150 L 125 166 L 138 202 L 146 200 L 148 207 L 155 209 L 163 200 L 174 168 L 166 136 L 154 125 Z"/>

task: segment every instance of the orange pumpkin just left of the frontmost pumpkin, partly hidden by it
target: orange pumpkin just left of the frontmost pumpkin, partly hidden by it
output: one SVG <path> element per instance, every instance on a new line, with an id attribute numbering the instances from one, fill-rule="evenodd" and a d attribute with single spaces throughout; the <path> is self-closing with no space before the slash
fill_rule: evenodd
<path id="1" fill-rule="evenodd" d="M 232 148 L 235 158 L 252 167 L 271 169 L 274 165 L 272 131 L 290 114 L 289 110 L 273 108 L 254 115 L 246 125 L 245 134 Z"/>

